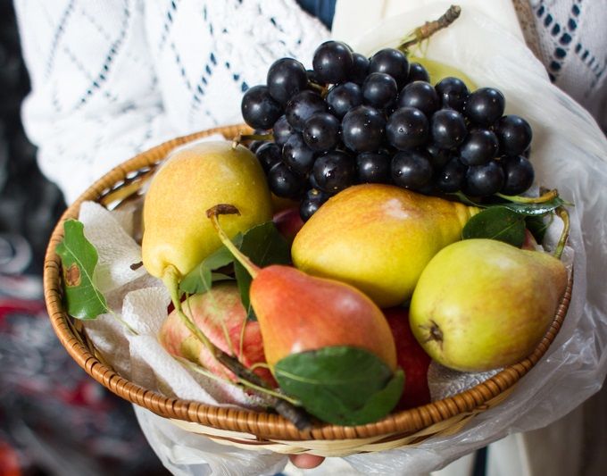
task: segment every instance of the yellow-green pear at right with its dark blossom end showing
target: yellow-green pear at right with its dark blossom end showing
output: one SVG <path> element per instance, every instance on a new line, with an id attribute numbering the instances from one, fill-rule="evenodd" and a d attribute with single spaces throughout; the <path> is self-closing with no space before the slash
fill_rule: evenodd
<path id="1" fill-rule="evenodd" d="M 421 273 L 410 323 L 437 363 L 483 372 L 533 352 L 567 285 L 564 264 L 493 239 L 446 246 Z"/>

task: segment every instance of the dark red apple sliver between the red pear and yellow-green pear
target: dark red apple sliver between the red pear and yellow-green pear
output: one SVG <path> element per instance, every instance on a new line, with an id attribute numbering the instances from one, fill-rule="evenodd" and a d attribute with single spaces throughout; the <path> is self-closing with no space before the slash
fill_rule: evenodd
<path id="1" fill-rule="evenodd" d="M 396 344 L 396 362 L 404 371 L 404 391 L 396 410 L 430 403 L 428 366 L 430 357 L 413 337 L 409 327 L 409 310 L 404 307 L 384 309 Z"/>

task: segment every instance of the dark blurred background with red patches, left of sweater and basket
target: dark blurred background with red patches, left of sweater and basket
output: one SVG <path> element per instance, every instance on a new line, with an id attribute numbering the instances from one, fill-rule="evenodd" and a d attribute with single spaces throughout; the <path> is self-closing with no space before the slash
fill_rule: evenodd
<path id="1" fill-rule="evenodd" d="M 48 238 L 65 209 L 20 120 L 29 92 L 10 0 L 0 0 L 0 476 L 168 474 L 131 406 L 79 368 L 42 295 Z"/>

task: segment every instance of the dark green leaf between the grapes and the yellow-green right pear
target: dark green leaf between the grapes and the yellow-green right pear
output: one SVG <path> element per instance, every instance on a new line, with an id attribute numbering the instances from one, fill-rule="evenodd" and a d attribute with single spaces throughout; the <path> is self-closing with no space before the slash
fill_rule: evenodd
<path id="1" fill-rule="evenodd" d="M 461 237 L 497 239 L 520 247 L 525 241 L 525 216 L 505 206 L 492 206 L 470 218 Z"/>

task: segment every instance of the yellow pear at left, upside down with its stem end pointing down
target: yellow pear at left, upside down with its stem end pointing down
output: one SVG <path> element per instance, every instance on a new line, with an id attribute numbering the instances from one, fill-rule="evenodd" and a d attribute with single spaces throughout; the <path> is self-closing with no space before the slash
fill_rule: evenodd
<path id="1" fill-rule="evenodd" d="M 226 216 L 229 237 L 270 221 L 270 190 L 262 167 L 245 146 L 201 142 L 178 149 L 154 175 L 144 203 L 143 263 L 164 279 L 183 276 L 221 245 L 206 217 L 214 205 L 237 206 Z"/>

